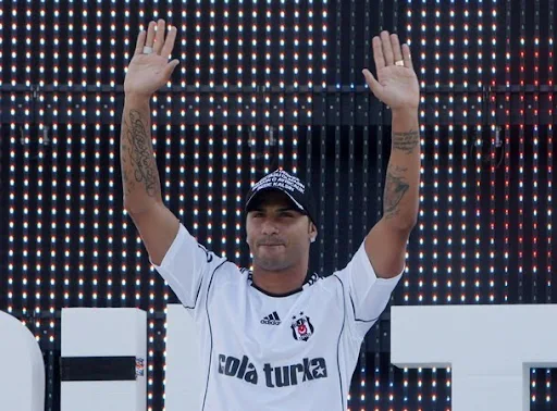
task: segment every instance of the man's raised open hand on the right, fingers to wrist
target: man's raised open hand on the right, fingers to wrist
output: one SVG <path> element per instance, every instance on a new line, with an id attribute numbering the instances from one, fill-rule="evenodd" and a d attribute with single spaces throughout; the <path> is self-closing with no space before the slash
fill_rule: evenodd
<path id="1" fill-rule="evenodd" d="M 373 59 L 377 78 L 367 68 L 362 73 L 375 97 L 392 110 L 418 109 L 420 85 L 408 45 L 400 47 L 396 34 L 382 32 L 381 37 L 373 37 Z"/>

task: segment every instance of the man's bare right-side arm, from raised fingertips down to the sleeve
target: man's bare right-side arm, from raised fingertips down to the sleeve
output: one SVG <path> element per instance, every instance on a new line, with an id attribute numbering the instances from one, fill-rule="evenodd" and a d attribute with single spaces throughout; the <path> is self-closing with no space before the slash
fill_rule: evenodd
<path id="1" fill-rule="evenodd" d="M 383 217 L 366 237 L 368 258 L 379 277 L 391 278 L 405 266 L 406 244 L 418 220 L 420 186 L 419 85 L 410 50 L 400 48 L 398 37 L 383 32 L 373 39 L 379 82 L 364 71 L 373 94 L 393 112 L 393 136 Z M 395 61 L 404 61 L 395 65 Z"/>

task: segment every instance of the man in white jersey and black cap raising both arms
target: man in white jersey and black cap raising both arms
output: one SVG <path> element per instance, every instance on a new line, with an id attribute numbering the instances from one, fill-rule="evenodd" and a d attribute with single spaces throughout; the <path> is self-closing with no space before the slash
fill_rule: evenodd
<path id="1" fill-rule="evenodd" d="M 177 65 L 176 38 L 151 22 L 137 39 L 125 79 L 122 121 L 124 204 L 149 253 L 199 327 L 202 410 L 345 410 L 360 345 L 398 283 L 418 215 L 419 86 L 407 45 L 373 38 L 373 94 L 393 112 L 384 215 L 348 265 L 308 274 L 318 232 L 308 187 L 285 171 L 246 199 L 253 271 L 206 250 L 162 202 L 150 140 L 149 100 Z M 321 233 L 321 235 L 324 235 Z"/>

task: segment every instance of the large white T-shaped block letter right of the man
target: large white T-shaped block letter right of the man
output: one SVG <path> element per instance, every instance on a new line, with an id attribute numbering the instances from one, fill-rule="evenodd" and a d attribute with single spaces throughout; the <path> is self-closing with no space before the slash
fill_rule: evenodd
<path id="1" fill-rule="evenodd" d="M 530 369 L 557 366 L 557 304 L 392 307 L 391 361 L 451 368 L 451 409 L 530 410 Z"/>

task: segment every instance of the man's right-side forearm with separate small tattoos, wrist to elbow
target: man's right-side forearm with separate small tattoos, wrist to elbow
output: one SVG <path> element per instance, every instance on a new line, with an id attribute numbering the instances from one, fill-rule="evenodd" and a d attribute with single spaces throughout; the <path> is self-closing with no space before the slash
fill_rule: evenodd
<path id="1" fill-rule="evenodd" d="M 393 111 L 391 158 L 385 177 L 383 217 L 401 228 L 416 225 L 420 187 L 418 110 Z"/>

